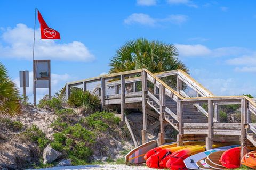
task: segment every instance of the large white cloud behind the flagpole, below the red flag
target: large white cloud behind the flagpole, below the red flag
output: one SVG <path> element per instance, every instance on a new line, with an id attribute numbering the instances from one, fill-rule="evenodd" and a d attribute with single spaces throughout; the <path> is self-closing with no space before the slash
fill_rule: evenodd
<path id="1" fill-rule="evenodd" d="M 25 24 L 17 24 L 14 28 L 4 29 L 0 39 L 0 57 L 31 60 L 33 56 L 34 30 Z M 58 40 L 57 40 L 58 41 Z M 79 41 L 56 43 L 54 40 L 40 40 L 40 31 L 36 30 L 35 59 L 55 59 L 70 61 L 92 61 L 93 54 Z"/>

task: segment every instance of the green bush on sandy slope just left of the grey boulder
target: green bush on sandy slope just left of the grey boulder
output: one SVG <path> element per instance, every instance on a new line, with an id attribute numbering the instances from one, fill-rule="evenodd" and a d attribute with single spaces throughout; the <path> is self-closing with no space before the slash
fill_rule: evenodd
<path id="1" fill-rule="evenodd" d="M 40 149 L 45 148 L 49 143 L 49 139 L 46 138 L 45 133 L 34 124 L 31 128 L 27 128 L 23 134 L 29 141 L 36 142 Z"/>

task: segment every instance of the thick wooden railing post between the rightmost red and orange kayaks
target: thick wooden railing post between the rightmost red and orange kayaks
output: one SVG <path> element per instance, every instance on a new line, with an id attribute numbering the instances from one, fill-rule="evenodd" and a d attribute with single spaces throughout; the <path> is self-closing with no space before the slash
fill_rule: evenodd
<path id="1" fill-rule="evenodd" d="M 241 137 L 240 137 L 240 146 L 241 146 L 240 158 L 241 159 L 245 155 L 244 147 L 245 147 L 245 140 L 247 138 L 246 129 L 245 129 L 245 125 L 248 121 L 248 119 L 247 119 L 248 118 L 247 117 L 247 112 L 248 112 L 247 107 L 248 107 L 247 100 L 245 98 L 243 98 L 241 100 Z"/>

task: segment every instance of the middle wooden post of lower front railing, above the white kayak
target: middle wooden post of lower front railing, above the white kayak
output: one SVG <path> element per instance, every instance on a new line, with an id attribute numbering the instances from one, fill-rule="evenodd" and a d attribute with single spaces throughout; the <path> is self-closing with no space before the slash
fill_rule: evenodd
<path id="1" fill-rule="evenodd" d="M 208 135 L 206 137 L 206 150 L 212 149 L 213 145 L 213 101 L 208 100 Z"/>

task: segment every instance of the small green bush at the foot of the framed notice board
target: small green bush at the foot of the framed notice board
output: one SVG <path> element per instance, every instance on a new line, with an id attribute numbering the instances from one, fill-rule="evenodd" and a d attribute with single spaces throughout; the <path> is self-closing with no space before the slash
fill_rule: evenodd
<path id="1" fill-rule="evenodd" d="M 55 111 L 62 108 L 62 103 L 58 98 L 52 98 L 49 100 L 48 95 L 45 95 L 41 100 L 39 100 L 39 104 L 37 105 L 39 108 L 51 108 Z"/>

